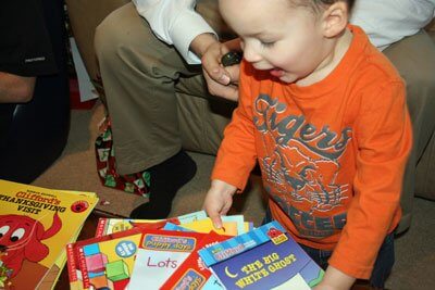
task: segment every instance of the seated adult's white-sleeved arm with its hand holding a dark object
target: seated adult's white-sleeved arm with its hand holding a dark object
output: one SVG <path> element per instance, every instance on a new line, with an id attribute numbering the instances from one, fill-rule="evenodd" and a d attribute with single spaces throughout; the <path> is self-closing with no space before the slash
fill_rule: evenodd
<path id="1" fill-rule="evenodd" d="M 233 101 L 238 99 L 238 65 L 225 70 L 220 66 L 222 52 L 233 48 L 219 41 L 211 26 L 195 11 L 195 0 L 133 2 L 160 40 L 174 46 L 188 64 L 202 63 L 211 94 Z"/>

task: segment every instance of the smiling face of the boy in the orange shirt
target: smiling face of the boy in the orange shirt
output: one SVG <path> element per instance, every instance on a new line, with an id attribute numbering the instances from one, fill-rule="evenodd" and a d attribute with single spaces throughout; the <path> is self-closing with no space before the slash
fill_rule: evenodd
<path id="1" fill-rule="evenodd" d="M 220 0 L 221 14 L 240 36 L 244 58 L 294 83 L 322 66 L 326 45 L 320 15 L 289 0 Z"/>

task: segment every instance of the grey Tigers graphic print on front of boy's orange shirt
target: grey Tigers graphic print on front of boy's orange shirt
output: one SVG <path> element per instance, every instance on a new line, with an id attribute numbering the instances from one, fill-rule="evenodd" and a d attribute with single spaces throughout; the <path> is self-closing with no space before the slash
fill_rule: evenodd
<path id="1" fill-rule="evenodd" d="M 269 191 L 290 218 L 291 207 L 298 204 L 310 204 L 309 216 L 313 211 L 333 211 L 347 198 L 349 184 L 337 184 L 336 177 L 351 139 L 350 128 L 339 134 L 327 125 L 318 128 L 303 115 L 289 114 L 285 103 L 268 94 L 254 101 L 253 122 L 266 152 L 259 161 L 266 182 L 274 188 Z M 294 222 L 303 231 L 303 223 Z M 332 234 L 327 231 L 321 236 Z"/>

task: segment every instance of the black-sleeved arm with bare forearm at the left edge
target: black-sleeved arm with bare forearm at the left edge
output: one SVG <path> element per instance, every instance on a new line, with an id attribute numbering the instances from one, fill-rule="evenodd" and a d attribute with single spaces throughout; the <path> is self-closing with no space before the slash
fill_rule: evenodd
<path id="1" fill-rule="evenodd" d="M 36 77 L 57 73 L 40 1 L 5 1 L 0 27 L 0 103 L 27 102 Z"/>

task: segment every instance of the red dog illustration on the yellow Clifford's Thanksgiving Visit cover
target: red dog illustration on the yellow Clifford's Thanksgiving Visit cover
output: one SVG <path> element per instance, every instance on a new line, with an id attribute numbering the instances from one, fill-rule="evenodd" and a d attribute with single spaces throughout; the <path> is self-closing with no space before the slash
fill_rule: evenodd
<path id="1" fill-rule="evenodd" d="M 53 223 L 48 230 L 42 224 L 24 215 L 0 215 L 0 251 L 3 264 L 12 269 L 10 278 L 18 274 L 23 261 L 39 262 L 45 259 L 50 250 L 41 241 L 46 240 L 62 228 L 62 220 L 58 213 L 53 215 Z"/>

